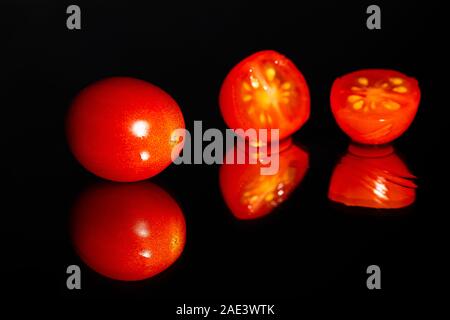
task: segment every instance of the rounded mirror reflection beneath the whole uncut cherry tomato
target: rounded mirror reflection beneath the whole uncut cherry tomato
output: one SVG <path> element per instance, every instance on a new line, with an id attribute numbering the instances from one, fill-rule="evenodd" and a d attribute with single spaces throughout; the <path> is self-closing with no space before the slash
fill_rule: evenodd
<path id="1" fill-rule="evenodd" d="M 167 269 L 186 237 L 180 207 L 151 183 L 92 187 L 74 205 L 71 231 L 81 259 L 117 280 L 146 279 Z"/>

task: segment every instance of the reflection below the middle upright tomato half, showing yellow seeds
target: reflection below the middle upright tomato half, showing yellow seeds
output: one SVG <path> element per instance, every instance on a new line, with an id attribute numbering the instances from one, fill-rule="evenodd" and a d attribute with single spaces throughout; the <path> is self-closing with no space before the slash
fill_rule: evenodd
<path id="1" fill-rule="evenodd" d="M 237 155 L 244 151 L 236 147 L 229 152 Z M 243 220 L 260 218 L 273 211 L 289 197 L 308 170 L 308 154 L 296 145 L 278 153 L 279 167 L 273 175 L 261 174 L 261 168 L 267 167 L 263 157 L 254 152 L 246 156 L 259 158 L 259 161 L 256 164 L 225 163 L 219 172 L 225 203 L 236 218 Z"/>

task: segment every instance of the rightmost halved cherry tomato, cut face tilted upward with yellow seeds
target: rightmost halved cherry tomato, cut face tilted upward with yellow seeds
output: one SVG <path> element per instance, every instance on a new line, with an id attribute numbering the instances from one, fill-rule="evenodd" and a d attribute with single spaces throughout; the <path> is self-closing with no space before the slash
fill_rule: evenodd
<path id="1" fill-rule="evenodd" d="M 417 81 L 392 70 L 360 70 L 334 81 L 331 108 L 341 129 L 363 144 L 398 138 L 413 121 L 420 101 Z"/>

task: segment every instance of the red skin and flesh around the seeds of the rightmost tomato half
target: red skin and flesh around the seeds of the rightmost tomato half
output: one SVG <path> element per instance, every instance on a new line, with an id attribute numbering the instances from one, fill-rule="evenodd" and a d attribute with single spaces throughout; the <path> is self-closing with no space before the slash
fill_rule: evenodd
<path id="1" fill-rule="evenodd" d="M 346 107 L 350 95 L 359 94 L 352 91 L 355 80 L 366 78 L 371 83 L 388 83 L 385 90 L 391 101 L 399 105 L 398 110 L 381 110 L 380 112 L 356 112 Z M 405 93 L 392 92 L 389 79 L 402 79 L 407 88 Z M 371 87 L 369 84 L 368 87 Z M 379 89 L 379 88 L 378 88 Z M 380 94 L 382 97 L 382 94 Z M 354 141 L 361 144 L 386 144 L 400 137 L 411 125 L 420 102 L 420 88 L 417 80 L 406 75 L 384 69 L 359 70 L 337 78 L 331 88 L 331 109 L 339 127 Z M 367 103 L 367 101 L 365 101 Z"/>

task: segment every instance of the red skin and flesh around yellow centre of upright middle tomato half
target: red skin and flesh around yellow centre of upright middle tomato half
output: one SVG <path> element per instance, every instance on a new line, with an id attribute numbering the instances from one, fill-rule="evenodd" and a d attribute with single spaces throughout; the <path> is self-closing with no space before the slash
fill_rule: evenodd
<path id="1" fill-rule="evenodd" d="M 241 86 L 244 80 L 261 69 L 263 64 L 270 63 L 276 71 L 283 75 L 294 89 L 295 98 L 288 108 L 275 111 L 273 107 L 264 111 L 261 103 L 256 100 L 255 113 L 249 114 L 248 107 L 242 103 Z M 280 98 L 277 98 L 279 101 Z M 279 129 L 279 139 L 284 139 L 300 129 L 309 118 L 310 95 L 305 78 L 297 67 L 282 54 L 272 51 L 257 52 L 239 62 L 226 76 L 220 90 L 219 105 L 222 116 L 228 127 L 232 129 Z M 274 118 L 274 123 L 261 123 L 258 112 L 267 112 Z M 269 133 L 270 138 L 270 133 Z"/>

